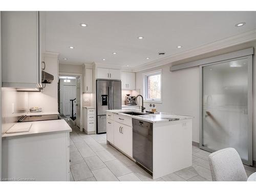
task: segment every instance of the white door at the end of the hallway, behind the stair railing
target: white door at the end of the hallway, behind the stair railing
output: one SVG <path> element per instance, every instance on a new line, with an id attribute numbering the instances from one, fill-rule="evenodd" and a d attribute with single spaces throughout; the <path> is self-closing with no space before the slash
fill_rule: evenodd
<path id="1" fill-rule="evenodd" d="M 70 99 L 74 99 L 73 98 L 73 87 L 74 86 L 63 86 L 63 91 L 62 91 L 62 110 L 63 110 L 63 114 L 65 115 L 71 115 L 71 102 Z"/>

